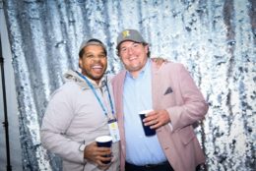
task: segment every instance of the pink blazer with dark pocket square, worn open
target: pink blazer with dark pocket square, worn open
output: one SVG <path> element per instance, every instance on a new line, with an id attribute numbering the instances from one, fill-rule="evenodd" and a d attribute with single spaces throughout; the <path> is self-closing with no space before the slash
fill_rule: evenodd
<path id="1" fill-rule="evenodd" d="M 121 138 L 121 171 L 126 149 L 122 96 L 125 74 L 122 71 L 112 80 Z M 208 104 L 188 71 L 177 63 L 162 64 L 160 69 L 152 63 L 152 91 L 154 110 L 166 109 L 172 125 L 172 129 L 165 125 L 157 130 L 165 156 L 175 171 L 194 171 L 205 162 L 205 155 L 192 125 L 204 119 Z"/>

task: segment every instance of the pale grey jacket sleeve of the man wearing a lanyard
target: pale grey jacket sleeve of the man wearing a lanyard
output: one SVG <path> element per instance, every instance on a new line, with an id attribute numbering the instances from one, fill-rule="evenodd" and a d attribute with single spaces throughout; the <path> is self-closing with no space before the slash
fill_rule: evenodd
<path id="1" fill-rule="evenodd" d="M 82 142 L 66 138 L 66 130 L 74 117 L 72 99 L 63 89 L 58 89 L 48 103 L 42 119 L 40 139 L 43 147 L 60 157 L 75 163 L 84 163 Z"/>

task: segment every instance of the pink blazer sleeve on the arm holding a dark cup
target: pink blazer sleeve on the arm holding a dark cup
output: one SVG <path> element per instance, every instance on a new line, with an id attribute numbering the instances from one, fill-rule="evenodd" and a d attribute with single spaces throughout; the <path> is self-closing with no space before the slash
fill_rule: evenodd
<path id="1" fill-rule="evenodd" d="M 203 94 L 183 65 L 176 67 L 175 77 L 177 85 L 174 90 L 179 97 L 179 103 L 166 109 L 170 115 L 173 131 L 202 120 L 208 111 L 208 104 Z"/>

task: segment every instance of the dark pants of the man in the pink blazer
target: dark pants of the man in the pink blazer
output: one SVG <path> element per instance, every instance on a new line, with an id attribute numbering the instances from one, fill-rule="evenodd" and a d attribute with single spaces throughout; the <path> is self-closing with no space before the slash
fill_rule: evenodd
<path id="1" fill-rule="evenodd" d="M 125 162 L 125 171 L 174 171 L 168 161 L 160 164 L 148 164 L 144 166 L 137 166 Z"/>

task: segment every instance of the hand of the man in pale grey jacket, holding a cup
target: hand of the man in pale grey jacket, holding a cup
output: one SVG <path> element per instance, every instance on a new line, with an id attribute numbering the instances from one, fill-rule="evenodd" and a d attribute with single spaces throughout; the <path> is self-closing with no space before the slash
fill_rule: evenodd
<path id="1" fill-rule="evenodd" d="M 84 158 L 90 160 L 98 165 L 101 170 L 107 169 L 110 164 L 104 164 L 102 161 L 111 160 L 111 148 L 110 147 L 97 147 L 96 142 L 88 144 L 84 150 Z"/>

